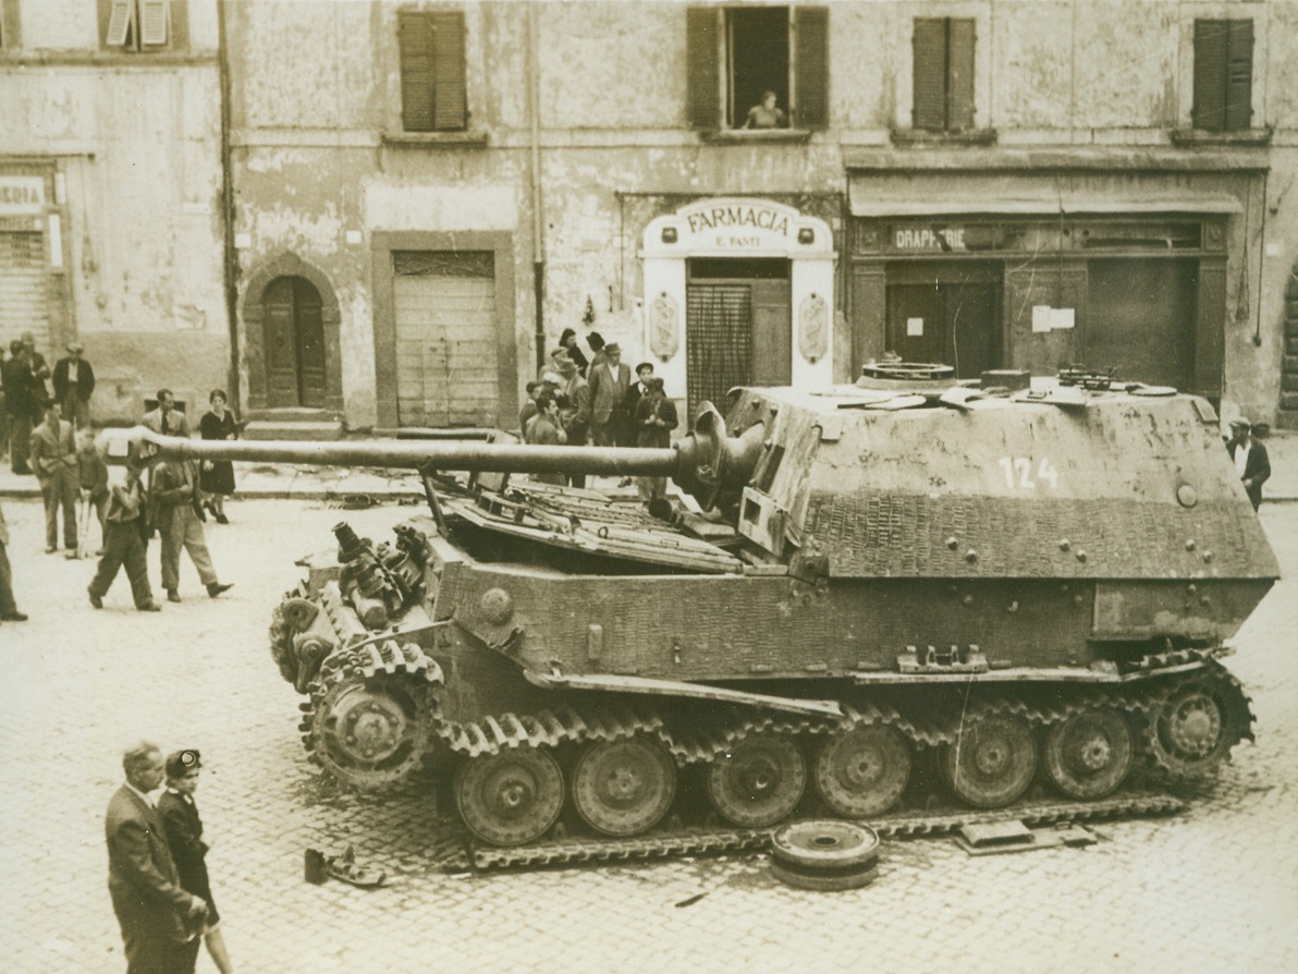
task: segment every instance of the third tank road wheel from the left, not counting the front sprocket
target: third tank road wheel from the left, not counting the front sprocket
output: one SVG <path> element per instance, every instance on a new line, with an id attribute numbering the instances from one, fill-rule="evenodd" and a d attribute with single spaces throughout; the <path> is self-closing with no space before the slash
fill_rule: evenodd
<path id="1" fill-rule="evenodd" d="M 741 829 L 765 829 L 797 808 L 807 783 L 802 752 L 789 738 L 754 734 L 707 769 L 707 797 L 722 818 Z"/>

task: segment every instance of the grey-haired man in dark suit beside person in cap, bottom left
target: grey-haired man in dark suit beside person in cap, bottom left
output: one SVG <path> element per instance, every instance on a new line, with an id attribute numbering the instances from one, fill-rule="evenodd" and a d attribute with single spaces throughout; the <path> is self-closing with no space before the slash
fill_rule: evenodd
<path id="1" fill-rule="evenodd" d="M 162 752 L 141 742 L 122 756 L 126 783 L 108 803 L 108 892 L 122 927 L 127 974 L 190 974 L 199 956 L 202 897 L 180 888 L 162 819 L 149 792 L 162 783 Z"/>

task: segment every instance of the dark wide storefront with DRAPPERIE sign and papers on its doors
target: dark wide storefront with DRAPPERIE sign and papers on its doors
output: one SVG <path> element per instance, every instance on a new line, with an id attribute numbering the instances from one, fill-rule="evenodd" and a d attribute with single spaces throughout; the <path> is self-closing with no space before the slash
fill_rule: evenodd
<path id="1" fill-rule="evenodd" d="M 854 349 L 961 378 L 1084 366 L 1218 399 L 1246 295 L 1236 179 L 853 177 Z"/>

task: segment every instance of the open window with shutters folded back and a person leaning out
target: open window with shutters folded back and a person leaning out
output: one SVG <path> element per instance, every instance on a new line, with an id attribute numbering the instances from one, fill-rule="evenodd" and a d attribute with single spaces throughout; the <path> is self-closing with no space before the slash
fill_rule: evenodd
<path id="1" fill-rule="evenodd" d="M 698 6 L 685 17 L 691 127 L 827 125 L 827 8 Z"/>

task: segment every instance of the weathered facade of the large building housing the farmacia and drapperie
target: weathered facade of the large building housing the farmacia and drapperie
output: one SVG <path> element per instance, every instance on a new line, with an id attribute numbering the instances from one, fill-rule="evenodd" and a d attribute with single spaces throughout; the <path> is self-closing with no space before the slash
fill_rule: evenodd
<path id="1" fill-rule="evenodd" d="M 38 6 L 5 0 L 3 84 L 31 83 Z M 223 66 L 226 145 L 202 148 L 231 222 L 212 204 L 187 281 L 225 342 L 228 230 L 221 347 L 254 418 L 510 427 L 572 327 L 691 405 L 890 351 L 1116 369 L 1298 425 L 1293 3 L 186 6 L 191 55 L 218 23 L 225 48 L 167 69 L 213 101 L 158 151 L 219 134 Z M 746 127 L 768 91 L 783 125 Z M 40 157 L 27 127 L 0 164 Z M 80 239 L 65 286 L 93 293 Z M 61 327 L 123 317 L 82 304 Z"/>

